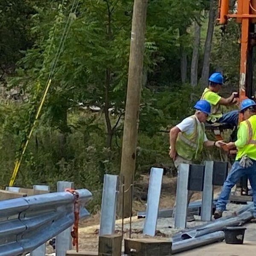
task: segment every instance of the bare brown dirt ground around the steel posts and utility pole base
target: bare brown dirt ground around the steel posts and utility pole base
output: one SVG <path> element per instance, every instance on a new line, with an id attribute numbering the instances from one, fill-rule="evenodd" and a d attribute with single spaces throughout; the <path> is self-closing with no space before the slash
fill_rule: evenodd
<path id="1" fill-rule="evenodd" d="M 146 198 L 148 189 L 148 175 L 142 175 L 140 183 L 135 186 L 134 189 L 134 203 L 133 203 L 133 214 L 132 218 L 132 238 L 145 238 L 142 234 L 143 230 L 141 228 L 141 219 L 137 218 L 138 211 L 145 210 Z M 162 182 L 162 191 L 160 198 L 160 208 L 171 208 L 175 204 L 175 193 L 176 193 L 177 178 L 168 177 L 167 175 L 163 176 Z M 216 189 L 216 192 L 219 189 Z M 143 199 L 144 198 L 144 199 Z M 201 199 L 201 193 L 195 193 L 192 197 L 192 201 Z M 170 218 L 171 219 L 171 218 Z M 88 250 L 88 251 L 97 251 L 98 250 L 98 234 L 99 234 L 99 212 L 95 215 L 90 216 L 79 225 L 79 250 Z M 140 221 L 140 223 L 139 223 Z M 173 220 L 172 220 L 173 221 Z M 136 224 L 138 222 L 138 224 Z M 161 222 L 161 221 L 160 221 Z M 121 234 L 122 225 L 121 220 L 116 221 L 116 233 Z M 159 221 L 158 221 L 159 223 Z M 200 221 L 195 221 L 194 224 L 200 224 Z M 176 233 L 178 230 L 172 229 L 168 234 L 157 230 L 156 238 L 171 237 L 173 233 Z M 129 237 L 129 219 L 125 219 L 124 226 L 124 237 Z M 53 253 L 53 249 L 50 245 L 47 245 L 47 253 Z"/>

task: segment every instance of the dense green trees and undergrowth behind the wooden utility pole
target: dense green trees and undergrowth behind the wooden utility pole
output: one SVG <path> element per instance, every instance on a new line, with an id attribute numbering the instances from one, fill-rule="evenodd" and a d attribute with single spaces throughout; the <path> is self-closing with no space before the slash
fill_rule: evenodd
<path id="1" fill-rule="evenodd" d="M 47 183 L 54 190 L 57 180 L 73 180 L 77 188 L 95 192 L 90 207 L 96 210 L 103 175 L 119 173 L 134 1 L 9 2 L 0 3 L 0 66 L 16 63 L 6 89 L 19 88 L 27 100 L 0 101 L 0 185 L 9 181 L 52 78 L 15 185 Z M 148 1 L 137 174 L 152 165 L 172 168 L 168 129 L 193 113 L 201 94 L 199 88 L 181 86 L 180 47 L 190 60 L 190 26 L 194 20 L 206 24 L 201 14 L 208 2 Z M 227 44 L 215 45 L 214 66 L 221 65 L 218 58 Z M 225 64 L 230 78 L 234 70 Z M 91 105 L 100 111 L 90 111 Z"/>

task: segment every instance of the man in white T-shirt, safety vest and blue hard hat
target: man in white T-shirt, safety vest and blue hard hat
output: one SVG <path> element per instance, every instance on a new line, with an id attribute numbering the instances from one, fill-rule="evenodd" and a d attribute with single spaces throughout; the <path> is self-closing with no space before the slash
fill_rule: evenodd
<path id="1" fill-rule="evenodd" d="M 176 168 L 180 163 L 191 164 L 196 160 L 203 146 L 221 146 L 221 141 L 210 141 L 205 134 L 204 122 L 211 112 L 210 104 L 206 100 L 199 100 L 194 108 L 196 110 L 194 115 L 185 118 L 170 131 L 169 156 L 174 161 Z M 193 191 L 188 193 L 188 204 L 193 193 Z M 187 216 L 187 221 L 193 220 L 193 215 Z"/>

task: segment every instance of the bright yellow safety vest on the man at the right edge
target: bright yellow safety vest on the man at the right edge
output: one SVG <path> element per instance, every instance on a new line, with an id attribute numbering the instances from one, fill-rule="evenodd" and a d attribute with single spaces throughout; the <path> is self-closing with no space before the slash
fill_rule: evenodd
<path id="1" fill-rule="evenodd" d="M 247 126 L 247 143 L 244 147 L 238 148 L 236 160 L 239 160 L 244 155 L 256 159 L 256 115 L 251 116 L 242 123 Z"/>

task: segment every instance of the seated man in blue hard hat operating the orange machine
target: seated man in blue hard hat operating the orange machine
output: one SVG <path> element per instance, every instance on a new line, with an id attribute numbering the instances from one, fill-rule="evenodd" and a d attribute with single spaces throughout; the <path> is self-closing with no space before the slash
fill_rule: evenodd
<path id="1" fill-rule="evenodd" d="M 236 126 L 238 122 L 238 110 L 222 113 L 221 105 L 229 106 L 237 102 L 238 93 L 233 92 L 228 98 L 222 98 L 218 95 L 218 91 L 223 84 L 223 76 L 221 73 L 213 73 L 209 77 L 209 87 L 204 89 L 201 99 L 207 100 L 211 104 L 211 113 L 207 118 L 209 123 L 229 123 Z"/>

